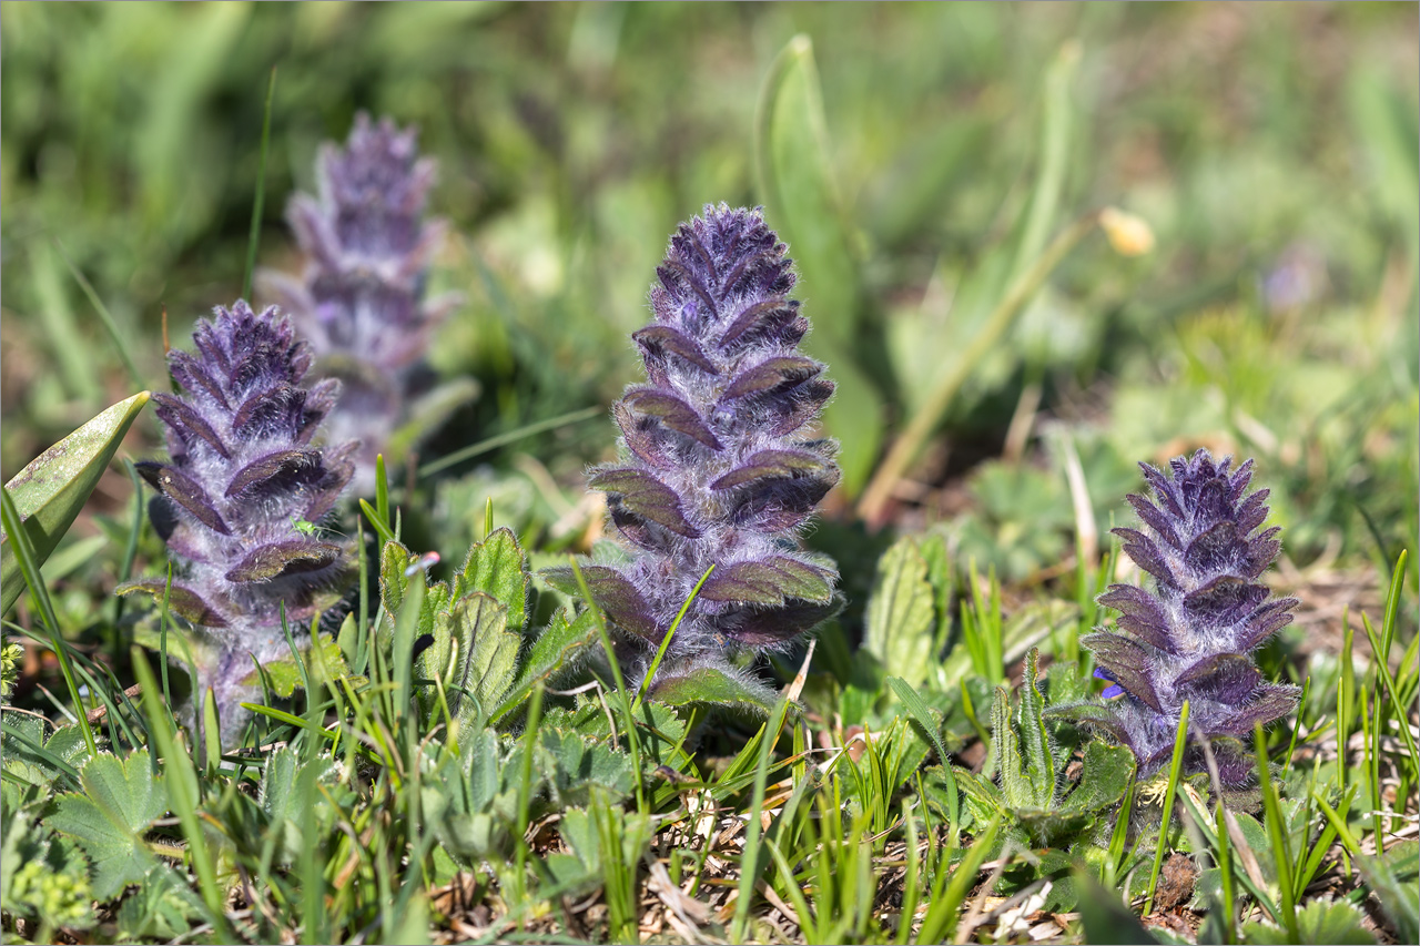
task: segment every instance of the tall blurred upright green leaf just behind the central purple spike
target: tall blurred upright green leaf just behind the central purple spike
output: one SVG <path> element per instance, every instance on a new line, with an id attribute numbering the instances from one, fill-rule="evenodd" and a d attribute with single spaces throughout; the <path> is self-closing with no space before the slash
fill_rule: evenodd
<path id="1" fill-rule="evenodd" d="M 859 271 L 831 168 L 814 44 L 795 36 L 760 89 L 754 135 L 755 173 L 768 223 L 788 243 L 807 286 L 814 287 L 814 334 L 805 349 L 831 366 L 838 396 L 824 426 L 843 450 L 843 489 L 862 489 L 882 443 L 880 398 L 852 354 L 858 331 Z"/>

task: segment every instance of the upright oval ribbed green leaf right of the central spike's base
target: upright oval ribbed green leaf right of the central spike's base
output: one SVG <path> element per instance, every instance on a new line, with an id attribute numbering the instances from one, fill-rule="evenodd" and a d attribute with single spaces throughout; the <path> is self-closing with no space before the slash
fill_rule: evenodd
<path id="1" fill-rule="evenodd" d="M 932 666 L 936 615 L 927 560 L 914 538 L 897 540 L 878 561 L 866 625 L 868 652 L 888 673 L 922 686 Z"/>

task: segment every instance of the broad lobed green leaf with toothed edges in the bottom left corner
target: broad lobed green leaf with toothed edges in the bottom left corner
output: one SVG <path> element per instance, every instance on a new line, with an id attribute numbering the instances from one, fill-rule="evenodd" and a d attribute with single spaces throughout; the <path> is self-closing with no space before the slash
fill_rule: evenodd
<path id="1" fill-rule="evenodd" d="M 148 750 L 119 760 L 101 753 L 81 773 L 84 794 L 64 794 L 45 824 L 72 837 L 94 865 L 94 896 L 106 901 L 141 884 L 158 864 L 143 835 L 168 811 Z"/>

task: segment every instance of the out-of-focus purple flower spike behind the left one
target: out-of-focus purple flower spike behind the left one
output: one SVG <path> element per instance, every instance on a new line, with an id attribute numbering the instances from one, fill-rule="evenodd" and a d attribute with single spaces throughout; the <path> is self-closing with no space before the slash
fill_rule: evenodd
<path id="1" fill-rule="evenodd" d="M 295 195 L 287 220 L 308 261 L 300 280 L 263 271 L 260 287 L 310 341 L 315 375 L 339 378 L 331 411 L 335 442 L 361 442 L 355 489 L 375 486 L 375 455 L 409 413 L 415 374 L 457 295 L 426 298 L 429 261 L 443 240 L 426 220 L 435 162 L 419 156 L 415 129 L 364 112 L 344 148 L 317 159 L 318 197 Z"/>

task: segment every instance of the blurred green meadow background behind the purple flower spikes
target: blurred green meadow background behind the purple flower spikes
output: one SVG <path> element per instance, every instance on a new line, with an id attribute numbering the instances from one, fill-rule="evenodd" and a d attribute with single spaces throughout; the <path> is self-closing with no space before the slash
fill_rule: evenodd
<path id="1" fill-rule="evenodd" d="M 1294 561 L 1393 560 L 1420 489 L 1417 44 L 1413 3 L 7 1 L 4 476 L 132 389 L 70 263 L 158 389 L 163 308 L 183 345 L 240 294 L 277 67 L 263 266 L 300 266 L 285 203 L 356 111 L 439 161 L 433 290 L 466 301 L 432 361 L 481 395 L 426 459 L 609 406 L 676 223 L 764 203 L 841 385 L 842 541 L 1011 274 L 1118 206 L 1154 250 L 1066 259 L 970 365 L 896 521 L 1030 580 L 1074 551 L 1071 456 L 1103 530 L 1136 460 L 1208 446 L 1257 457 Z M 453 469 L 429 541 L 456 555 L 487 496 L 559 541 L 612 442 L 594 419 Z M 129 449 L 156 445 L 145 418 Z M 98 507 L 131 501 L 115 476 Z"/>

